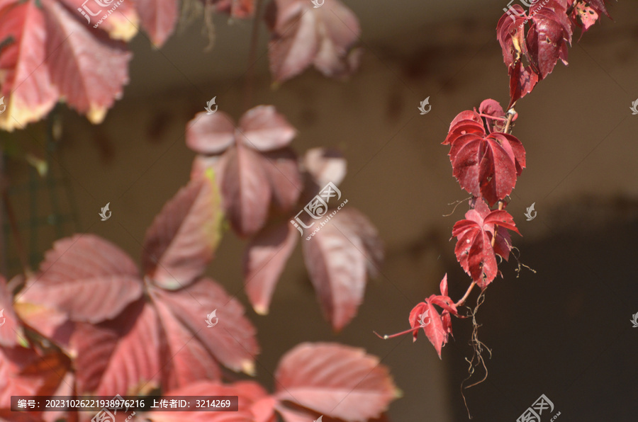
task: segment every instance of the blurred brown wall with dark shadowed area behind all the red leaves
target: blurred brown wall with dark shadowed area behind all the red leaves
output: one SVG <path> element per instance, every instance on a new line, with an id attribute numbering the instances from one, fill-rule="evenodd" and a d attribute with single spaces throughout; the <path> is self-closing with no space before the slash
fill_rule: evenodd
<path id="1" fill-rule="evenodd" d="M 310 70 L 273 89 L 262 25 L 251 106 L 273 104 L 286 115 L 298 130 L 298 154 L 312 147 L 345 154 L 340 190 L 379 229 L 382 274 L 369 281 L 358 317 L 339 334 L 320 313 L 299 249 L 266 317 L 254 314 L 242 291 L 244 241 L 228 232 L 208 274 L 257 325 L 257 378 L 265 385 L 272 387 L 276 363 L 292 346 L 338 341 L 366 348 L 390 367 L 403 390 L 388 413 L 392 421 L 466 421 L 461 382 L 472 355 L 471 321 L 454 319 L 442 360 L 425 336 L 413 344 L 410 336 L 382 341 L 372 331 L 407 329 L 410 309 L 438 292 L 445 273 L 454 299 L 469 283 L 449 241 L 468 195 L 440 143 L 461 110 L 485 98 L 508 101 L 495 31 L 507 4 L 345 4 L 362 25 L 359 71 L 340 82 Z M 478 312 L 478 337 L 492 355 L 483 354 L 487 380 L 463 390 L 475 421 L 515 421 L 541 394 L 554 404 L 543 422 L 558 412 L 559 421 L 636 420 L 638 329 L 629 320 L 638 312 L 638 115 L 629 106 L 638 98 L 637 6 L 611 2 L 614 21 L 601 18 L 578 42 L 577 32 L 569 67 L 558 64 L 517 104 L 513 134 L 525 145 L 528 168 L 508 211 L 523 235 L 513 236 L 520 266 L 515 258 L 501 266 L 503 279 L 488 287 Z M 252 22 L 216 15 L 214 25 L 210 51 L 201 18 L 182 25 L 162 50 L 140 33 L 131 43 L 130 83 L 102 125 L 62 105 L 54 112 L 60 141 L 45 135 L 52 120 L 2 135 L 8 195 L 32 268 L 55 239 L 74 232 L 99 234 L 140 256 L 146 228 L 189 179 L 194 153 L 184 143 L 186 122 L 213 96 L 235 119 L 245 111 Z M 420 115 L 428 96 L 432 110 Z M 35 164 L 50 154 L 47 176 L 11 159 L 18 150 Z M 458 200 L 464 202 L 454 211 Z M 106 203 L 113 215 L 101 222 Z M 537 217 L 526 221 L 532 203 Z M 9 278 L 20 263 L 7 224 L 0 240 Z M 478 368 L 472 380 L 483 375 Z"/>

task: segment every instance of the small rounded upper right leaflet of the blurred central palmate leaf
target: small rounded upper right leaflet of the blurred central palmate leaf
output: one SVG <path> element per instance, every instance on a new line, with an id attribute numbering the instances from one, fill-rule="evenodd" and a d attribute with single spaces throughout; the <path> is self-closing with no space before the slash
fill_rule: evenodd
<path id="1" fill-rule="evenodd" d="M 296 135 L 295 128 L 272 105 L 251 108 L 242 115 L 239 126 L 242 141 L 261 152 L 286 147 Z"/>

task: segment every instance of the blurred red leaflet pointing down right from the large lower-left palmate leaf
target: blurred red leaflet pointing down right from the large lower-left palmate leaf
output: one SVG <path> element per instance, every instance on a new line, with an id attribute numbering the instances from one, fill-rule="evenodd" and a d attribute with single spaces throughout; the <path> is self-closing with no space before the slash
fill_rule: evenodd
<path id="1" fill-rule="evenodd" d="M 244 308 L 208 278 L 181 290 L 168 292 L 150 287 L 153 302 L 164 304 L 179 324 L 216 360 L 232 370 L 252 373 L 254 356 L 259 353 L 255 329 L 244 316 Z M 216 311 L 218 324 L 206 326 L 206 316 Z M 167 316 L 162 316 L 162 321 Z M 166 327 L 164 327 L 166 328 Z"/>

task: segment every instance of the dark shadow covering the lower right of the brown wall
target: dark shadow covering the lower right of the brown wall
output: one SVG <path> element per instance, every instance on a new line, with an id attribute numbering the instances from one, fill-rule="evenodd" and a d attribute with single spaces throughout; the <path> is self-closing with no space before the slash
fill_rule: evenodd
<path id="1" fill-rule="evenodd" d="M 478 312 L 479 339 L 492 358 L 486 353 L 487 380 L 464 390 L 472 420 L 536 422 L 518 418 L 544 394 L 554 409 L 542 411 L 541 422 L 636 421 L 638 328 L 630 320 L 638 312 L 638 203 L 572 203 L 537 224 L 552 234 L 515 239 L 537 272 L 516 278 L 516 261 L 505 263 Z M 453 329 L 443 360 L 454 421 L 467 421 L 460 384 L 471 323 L 453 321 Z M 474 380 L 483 375 L 476 369 Z"/>

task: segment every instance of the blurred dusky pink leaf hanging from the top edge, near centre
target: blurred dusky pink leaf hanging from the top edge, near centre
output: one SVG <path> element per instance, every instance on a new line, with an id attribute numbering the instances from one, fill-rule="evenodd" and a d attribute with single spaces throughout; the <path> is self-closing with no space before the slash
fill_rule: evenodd
<path id="1" fill-rule="evenodd" d="M 274 0 L 267 23 L 270 69 L 282 82 L 314 64 L 325 76 L 346 76 L 357 67 L 353 50 L 361 32 L 354 13 L 337 0 L 320 8 L 305 0 Z"/>

